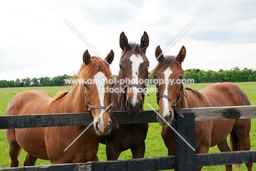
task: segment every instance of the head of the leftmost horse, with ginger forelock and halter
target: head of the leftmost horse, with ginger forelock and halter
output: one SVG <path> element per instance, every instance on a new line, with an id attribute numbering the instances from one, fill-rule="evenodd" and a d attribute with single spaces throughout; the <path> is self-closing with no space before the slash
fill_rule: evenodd
<path id="1" fill-rule="evenodd" d="M 104 60 L 100 57 L 90 56 L 86 50 L 83 55 L 84 63 L 78 75 L 79 78 L 84 79 L 85 102 L 89 113 L 94 117 L 94 128 L 99 135 L 107 135 L 112 126 L 118 126 L 110 110 L 112 94 L 106 91 L 112 87 L 114 82 L 109 69 L 109 64 L 113 59 L 113 50 Z"/>

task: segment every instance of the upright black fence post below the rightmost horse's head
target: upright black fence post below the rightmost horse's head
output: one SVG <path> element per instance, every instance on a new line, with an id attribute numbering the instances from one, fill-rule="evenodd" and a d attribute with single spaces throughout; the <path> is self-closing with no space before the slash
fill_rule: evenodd
<path id="1" fill-rule="evenodd" d="M 185 113 L 184 117 L 177 115 L 176 130 L 182 137 L 195 149 L 195 115 L 194 113 Z M 196 170 L 195 151 L 182 140 L 178 135 L 176 137 L 176 170 L 188 171 Z"/>

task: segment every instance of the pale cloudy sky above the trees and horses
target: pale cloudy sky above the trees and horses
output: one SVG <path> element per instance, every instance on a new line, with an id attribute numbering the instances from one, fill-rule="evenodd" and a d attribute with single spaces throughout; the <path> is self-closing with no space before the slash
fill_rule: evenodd
<path id="1" fill-rule="evenodd" d="M 256 69 L 255 9 L 246 0 L 1 1 L 0 80 L 72 75 L 86 49 L 103 57 L 113 49 L 117 75 L 120 33 L 139 43 L 144 31 L 150 69 L 156 46 L 170 44 L 165 55 L 187 49 L 183 69 Z"/>

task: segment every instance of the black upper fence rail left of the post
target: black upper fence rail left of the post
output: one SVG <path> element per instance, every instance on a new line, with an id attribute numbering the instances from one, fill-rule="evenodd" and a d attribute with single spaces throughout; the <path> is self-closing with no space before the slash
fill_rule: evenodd
<path id="1" fill-rule="evenodd" d="M 142 111 L 139 115 L 113 111 L 113 116 L 119 124 L 158 121 L 155 111 L 151 110 Z M 92 121 L 93 117 L 89 113 L 0 116 L 0 129 L 90 125 Z"/>

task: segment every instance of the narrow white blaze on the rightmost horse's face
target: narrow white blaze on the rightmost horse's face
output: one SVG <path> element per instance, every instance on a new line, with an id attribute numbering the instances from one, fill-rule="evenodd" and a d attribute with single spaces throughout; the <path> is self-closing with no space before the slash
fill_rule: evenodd
<path id="1" fill-rule="evenodd" d="M 170 75 L 172 74 L 172 70 L 168 67 L 165 72 L 165 80 L 169 79 Z M 164 95 L 168 96 L 168 81 L 165 81 L 165 91 Z M 170 114 L 169 110 L 169 104 L 168 104 L 168 99 L 167 98 L 162 98 L 162 101 L 164 102 L 164 110 L 162 111 L 162 117 L 165 117 L 166 115 Z"/>

